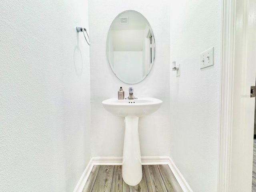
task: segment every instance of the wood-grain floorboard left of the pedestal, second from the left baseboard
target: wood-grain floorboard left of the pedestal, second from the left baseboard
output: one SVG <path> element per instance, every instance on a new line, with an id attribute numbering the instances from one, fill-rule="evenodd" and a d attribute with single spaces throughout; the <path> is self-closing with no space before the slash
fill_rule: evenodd
<path id="1" fill-rule="evenodd" d="M 114 166 L 101 165 L 92 192 L 109 192 L 112 184 Z"/>

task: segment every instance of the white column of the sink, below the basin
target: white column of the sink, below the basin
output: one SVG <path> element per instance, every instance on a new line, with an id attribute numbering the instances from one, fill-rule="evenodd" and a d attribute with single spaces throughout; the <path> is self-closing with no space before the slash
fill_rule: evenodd
<path id="1" fill-rule="evenodd" d="M 138 120 L 136 116 L 125 117 L 122 177 L 131 186 L 139 184 L 142 179 Z"/>

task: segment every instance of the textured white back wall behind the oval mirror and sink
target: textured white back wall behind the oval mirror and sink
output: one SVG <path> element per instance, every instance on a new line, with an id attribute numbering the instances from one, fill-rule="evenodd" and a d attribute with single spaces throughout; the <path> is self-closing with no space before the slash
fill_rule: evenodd
<path id="1" fill-rule="evenodd" d="M 170 6 L 168 0 L 89 0 L 91 70 L 92 156 L 122 156 L 124 118 L 107 112 L 101 102 L 134 88 L 136 97 L 163 100 L 160 110 L 139 120 L 142 156 L 166 156 L 170 146 Z M 150 5 L 150 6 L 149 6 Z M 112 72 L 106 55 L 106 39 L 114 18 L 124 10 L 136 10 L 149 21 L 156 39 L 156 60 L 150 74 L 140 83 L 128 85 Z"/>

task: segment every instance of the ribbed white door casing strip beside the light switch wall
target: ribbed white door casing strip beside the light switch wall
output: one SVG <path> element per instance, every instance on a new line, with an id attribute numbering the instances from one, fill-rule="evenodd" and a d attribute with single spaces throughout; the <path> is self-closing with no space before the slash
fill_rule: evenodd
<path id="1" fill-rule="evenodd" d="M 230 192 L 235 0 L 222 0 L 218 192 Z"/>

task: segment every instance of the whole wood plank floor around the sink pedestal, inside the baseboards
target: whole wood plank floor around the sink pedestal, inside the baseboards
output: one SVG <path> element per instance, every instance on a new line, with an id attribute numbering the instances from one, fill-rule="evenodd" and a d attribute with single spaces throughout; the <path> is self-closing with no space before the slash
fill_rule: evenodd
<path id="1" fill-rule="evenodd" d="M 183 192 L 168 165 L 142 166 L 142 180 L 129 186 L 122 166 L 95 165 L 82 192 Z"/>

